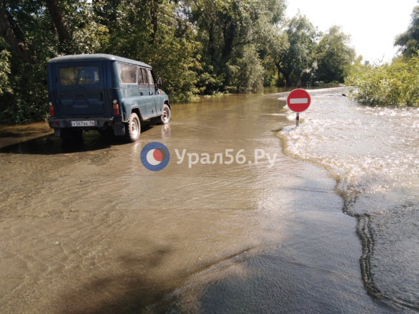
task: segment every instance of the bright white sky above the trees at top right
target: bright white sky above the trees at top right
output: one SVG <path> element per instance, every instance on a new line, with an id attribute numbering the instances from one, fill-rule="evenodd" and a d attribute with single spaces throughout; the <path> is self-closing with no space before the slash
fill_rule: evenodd
<path id="1" fill-rule="evenodd" d="M 370 63 L 391 61 L 397 52 L 394 38 L 405 32 L 417 0 L 288 0 L 286 15 L 300 13 L 326 32 L 330 26 L 342 26 L 351 36 L 357 55 Z"/>

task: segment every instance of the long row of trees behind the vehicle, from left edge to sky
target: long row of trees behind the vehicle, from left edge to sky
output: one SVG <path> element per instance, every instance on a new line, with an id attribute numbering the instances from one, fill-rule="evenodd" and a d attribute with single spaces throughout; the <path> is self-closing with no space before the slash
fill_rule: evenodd
<path id="1" fill-rule="evenodd" d="M 44 119 L 45 63 L 109 53 L 153 65 L 173 100 L 342 83 L 356 58 L 285 0 L 0 0 L 0 122 Z"/>

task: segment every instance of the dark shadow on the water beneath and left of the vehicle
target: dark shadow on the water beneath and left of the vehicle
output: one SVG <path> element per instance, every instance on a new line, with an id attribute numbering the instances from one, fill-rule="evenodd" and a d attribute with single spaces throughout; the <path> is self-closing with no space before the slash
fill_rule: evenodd
<path id="1" fill-rule="evenodd" d="M 143 126 L 141 134 L 152 129 L 153 126 Z M 39 134 L 38 129 L 25 129 L 26 137 Z M 2 139 L 18 139 L 23 137 L 21 133 L 6 131 L 1 132 Z M 63 142 L 62 139 L 48 134 L 33 139 L 19 141 L 18 143 L 0 147 L 0 153 L 28 154 L 28 155 L 58 155 L 60 153 L 77 153 L 82 151 L 99 151 L 111 146 L 127 144 L 123 136 L 100 135 L 97 131 L 89 131 L 83 134 L 82 141 Z"/>

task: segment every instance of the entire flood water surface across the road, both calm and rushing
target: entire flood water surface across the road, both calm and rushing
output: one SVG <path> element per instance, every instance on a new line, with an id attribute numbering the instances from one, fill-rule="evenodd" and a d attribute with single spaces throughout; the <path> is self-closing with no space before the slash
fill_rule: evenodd
<path id="1" fill-rule="evenodd" d="M 1 127 L 0 312 L 417 311 L 419 111 L 346 92 L 299 128 L 274 91 L 173 104 L 134 144 Z"/>

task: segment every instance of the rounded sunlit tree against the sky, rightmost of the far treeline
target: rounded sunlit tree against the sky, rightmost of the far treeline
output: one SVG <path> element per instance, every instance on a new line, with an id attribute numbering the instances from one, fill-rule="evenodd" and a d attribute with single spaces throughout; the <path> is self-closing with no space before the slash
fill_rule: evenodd
<path id="1" fill-rule="evenodd" d="M 314 49 L 316 80 L 325 83 L 344 82 L 357 55 L 349 44 L 350 36 L 343 33 L 339 26 L 332 26 L 322 36 Z"/>

